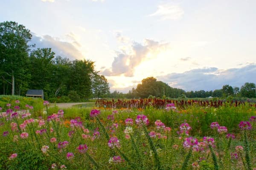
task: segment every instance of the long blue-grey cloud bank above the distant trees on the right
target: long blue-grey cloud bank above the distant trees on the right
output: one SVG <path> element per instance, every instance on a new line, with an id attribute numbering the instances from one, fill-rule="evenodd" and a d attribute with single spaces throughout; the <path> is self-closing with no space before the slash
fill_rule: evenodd
<path id="1" fill-rule="evenodd" d="M 192 69 L 183 73 L 171 73 L 158 76 L 157 80 L 168 83 L 172 87 L 191 90 L 221 89 L 223 85 L 242 86 L 246 82 L 256 82 L 256 63 L 241 68 L 220 70 L 218 68 Z"/>

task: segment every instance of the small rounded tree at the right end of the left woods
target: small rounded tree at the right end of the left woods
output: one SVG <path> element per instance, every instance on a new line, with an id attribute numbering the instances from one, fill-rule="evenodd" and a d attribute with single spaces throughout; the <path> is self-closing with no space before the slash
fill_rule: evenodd
<path id="1" fill-rule="evenodd" d="M 108 80 L 104 75 L 93 75 L 92 78 L 92 90 L 94 97 L 103 97 L 109 93 Z"/>

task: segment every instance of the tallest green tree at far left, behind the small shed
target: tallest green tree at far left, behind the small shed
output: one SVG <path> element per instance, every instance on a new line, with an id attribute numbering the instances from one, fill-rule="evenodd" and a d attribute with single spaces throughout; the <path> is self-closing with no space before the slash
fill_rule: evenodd
<path id="1" fill-rule="evenodd" d="M 31 38 L 30 30 L 23 25 L 13 21 L 0 23 L 0 73 L 3 81 L 12 85 L 12 95 L 15 94 L 15 78 L 20 78 L 20 82 L 26 79 Z"/>

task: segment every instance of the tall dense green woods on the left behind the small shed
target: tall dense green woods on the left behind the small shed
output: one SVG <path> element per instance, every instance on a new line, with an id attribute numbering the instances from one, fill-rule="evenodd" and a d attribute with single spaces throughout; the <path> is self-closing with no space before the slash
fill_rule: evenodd
<path id="1" fill-rule="evenodd" d="M 46 99 L 81 101 L 109 93 L 108 81 L 90 60 L 55 56 L 51 48 L 29 45 L 32 34 L 13 21 L 0 23 L 0 94 L 25 95 L 43 89 Z"/>

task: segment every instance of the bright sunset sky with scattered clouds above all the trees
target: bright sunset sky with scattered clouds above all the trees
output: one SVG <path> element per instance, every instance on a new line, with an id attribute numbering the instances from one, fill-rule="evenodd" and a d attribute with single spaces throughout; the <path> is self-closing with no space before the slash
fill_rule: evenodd
<path id="1" fill-rule="evenodd" d="M 1 0 L 37 48 L 90 60 L 113 92 L 143 78 L 191 90 L 256 83 L 256 0 Z"/>

